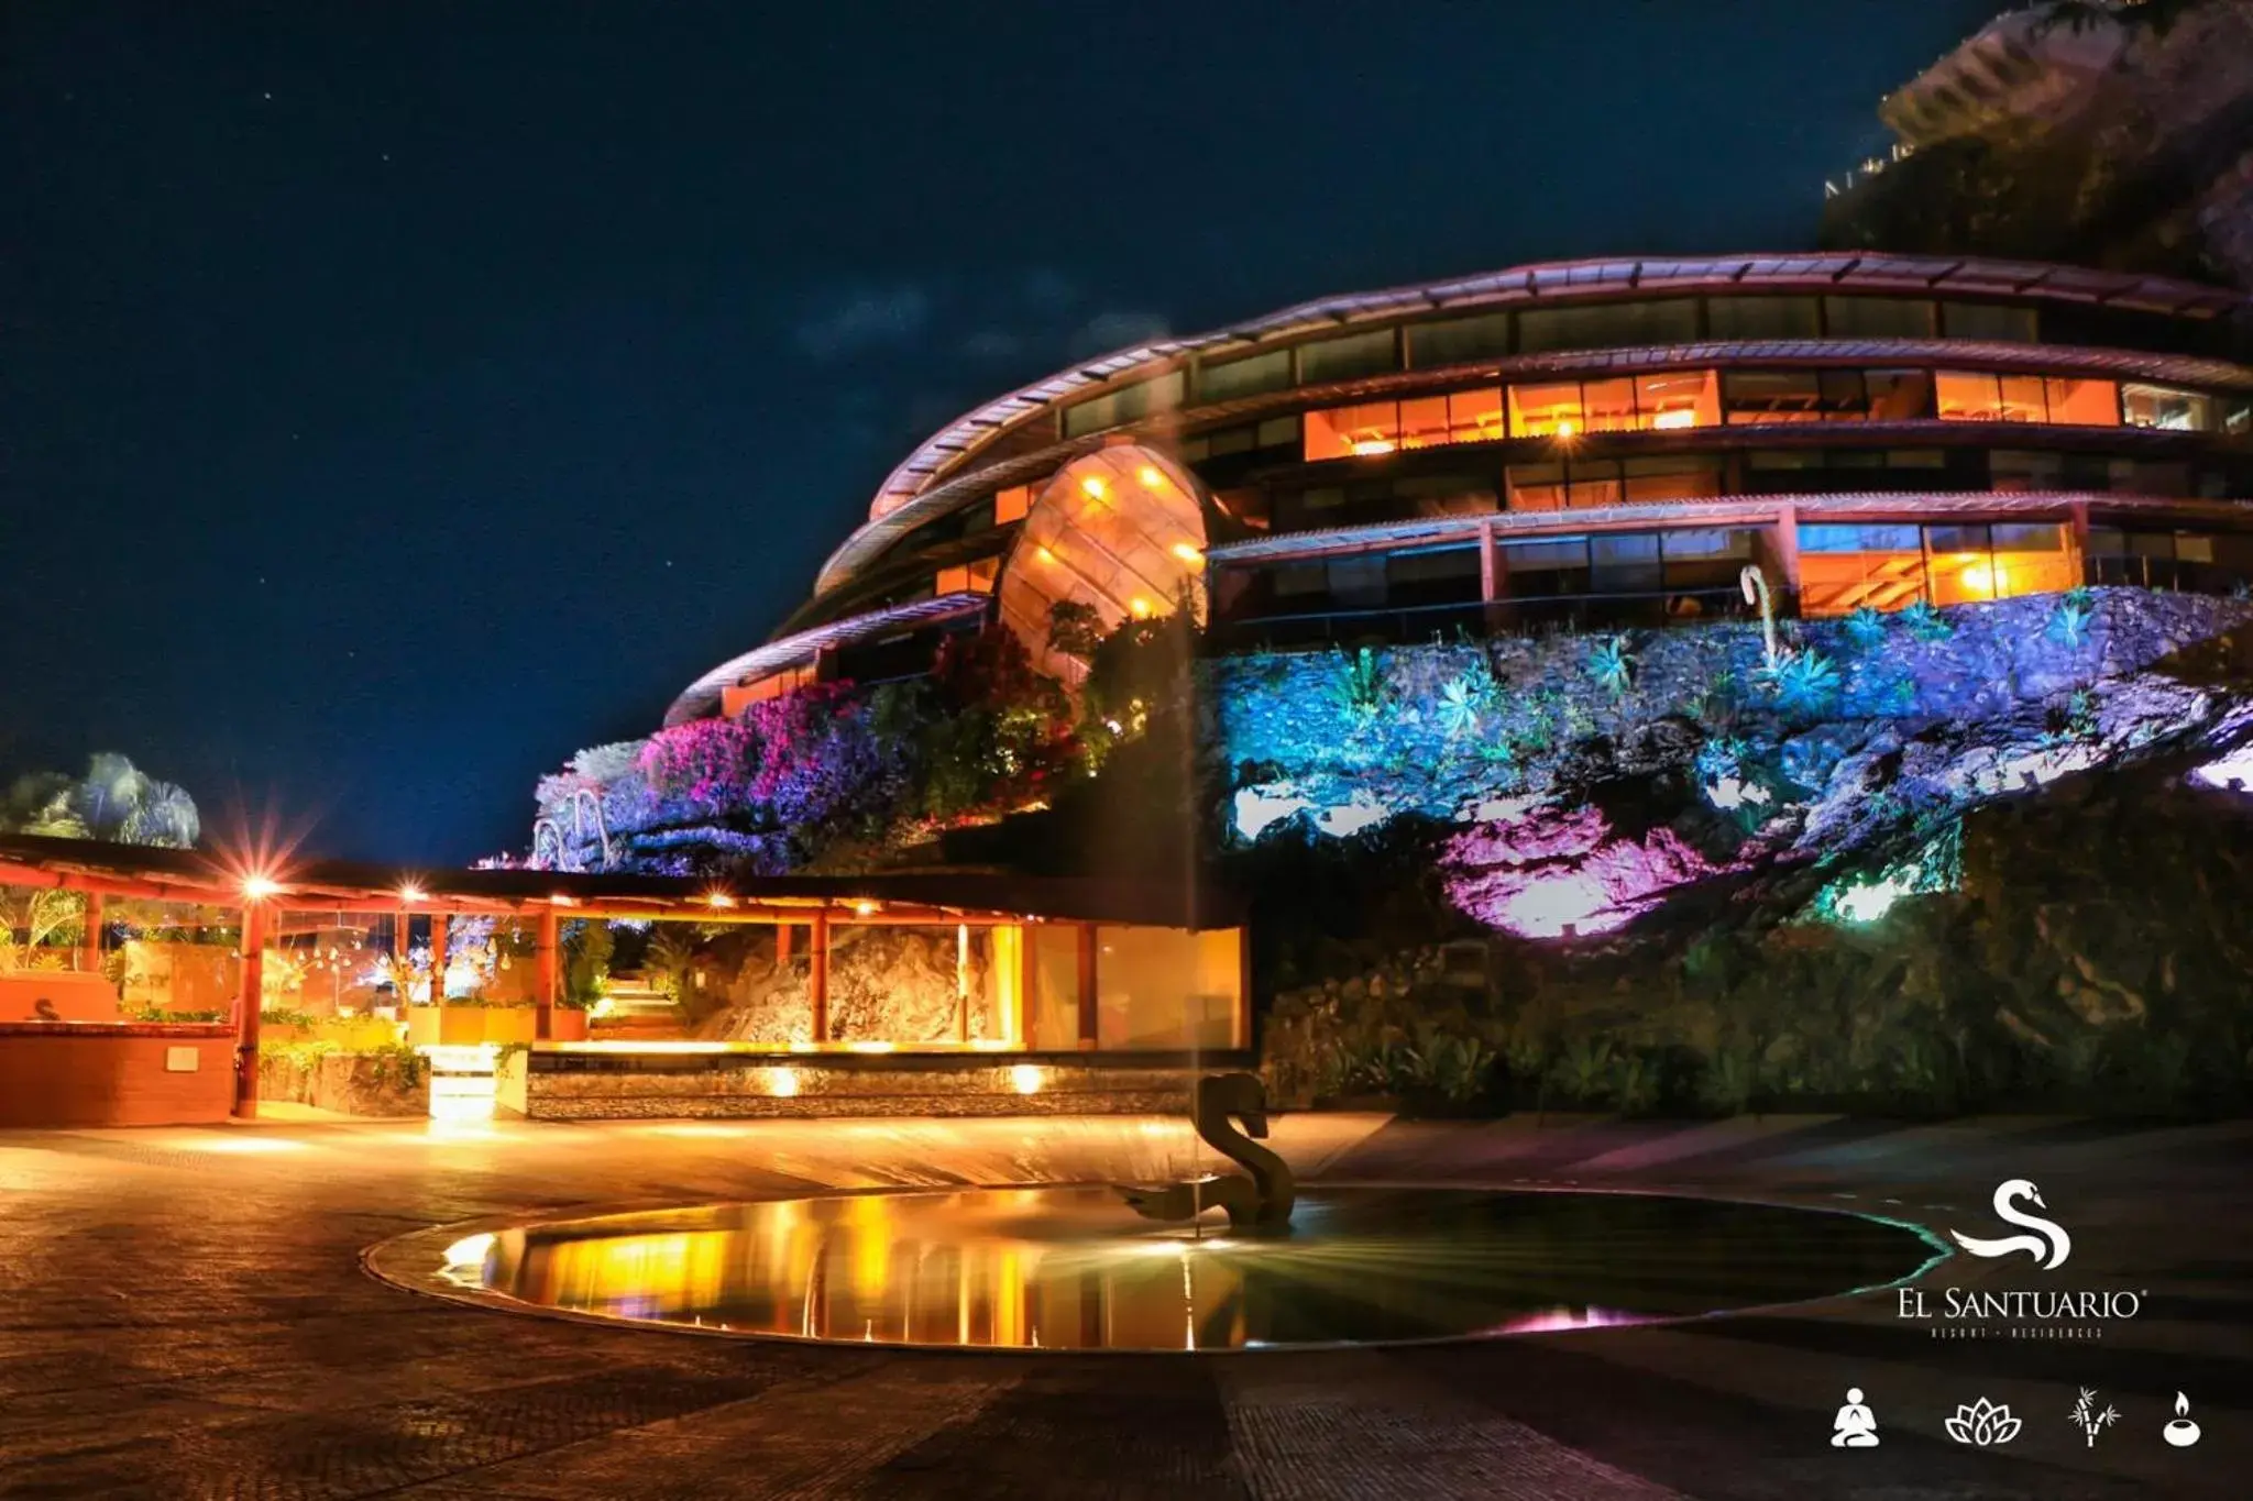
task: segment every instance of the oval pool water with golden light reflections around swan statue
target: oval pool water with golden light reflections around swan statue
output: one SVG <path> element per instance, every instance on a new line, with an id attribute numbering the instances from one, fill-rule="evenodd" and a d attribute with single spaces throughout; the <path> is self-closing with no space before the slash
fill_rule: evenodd
<path id="1" fill-rule="evenodd" d="M 847 1195 L 457 1242 L 541 1307 L 800 1339 L 1212 1350 L 1505 1334 L 1789 1303 L 1933 1256 L 1856 1215 L 1638 1195 L 1329 1188 L 1293 1233 L 1149 1226 L 1108 1188 Z"/>

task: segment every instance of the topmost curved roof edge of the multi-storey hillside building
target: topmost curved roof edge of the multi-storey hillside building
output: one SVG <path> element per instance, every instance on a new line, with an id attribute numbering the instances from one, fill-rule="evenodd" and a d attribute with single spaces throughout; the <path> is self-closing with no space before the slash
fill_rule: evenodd
<path id="1" fill-rule="evenodd" d="M 1057 371 L 1045 380 L 1034 380 L 958 416 L 924 439 L 915 452 L 885 475 L 883 486 L 870 502 L 867 515 L 870 522 L 883 520 L 989 439 L 1034 412 L 1136 369 L 1178 360 L 1185 353 L 1237 344 L 1257 347 L 1320 329 L 1383 322 L 1446 308 L 1575 302 L 1629 290 L 1694 293 L 1748 286 L 2048 297 L 2154 313 L 2221 313 L 2244 304 L 2244 295 L 2228 288 L 2174 281 L 2170 277 L 2145 277 L 2140 272 L 2089 270 L 2046 261 L 1985 261 L 1886 252 L 1597 259 L 1514 266 L 1471 277 L 1318 297 L 1212 333 L 1151 340 L 1149 344 L 1120 349 L 1099 360 Z"/>

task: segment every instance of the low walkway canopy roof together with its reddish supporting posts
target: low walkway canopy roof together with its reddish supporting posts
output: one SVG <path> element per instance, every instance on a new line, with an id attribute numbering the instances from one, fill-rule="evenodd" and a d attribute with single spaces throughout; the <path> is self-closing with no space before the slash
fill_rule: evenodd
<path id="1" fill-rule="evenodd" d="M 399 866 L 257 857 L 0 835 L 0 884 L 77 891 L 86 898 L 90 961 L 99 961 L 104 898 L 189 902 L 241 911 L 241 986 L 234 997 L 234 1112 L 257 1114 L 259 997 L 264 947 L 277 914 L 388 914 L 430 923 L 433 995 L 444 995 L 446 920 L 509 918 L 536 934 L 536 1031 L 554 1035 L 559 929 L 575 918 L 640 923 L 762 923 L 777 929 L 777 959 L 807 929 L 813 1035 L 827 1035 L 831 932 L 847 925 L 1070 925 L 1079 934 L 1079 1033 L 1095 1037 L 1095 927 L 1237 927 L 1241 905 L 1212 889 L 1151 889 L 1113 880 L 1027 880 L 994 871 L 903 871 L 888 875 L 782 875 L 732 882 L 536 869 L 421 873 Z M 401 945 L 403 950 L 403 945 Z M 1018 963 L 1030 963 L 1021 945 Z M 1018 977 L 1025 983 L 1025 977 Z"/>

